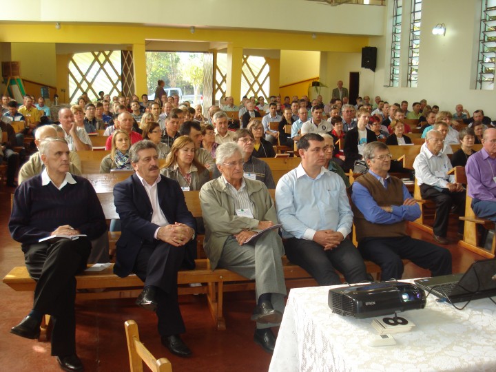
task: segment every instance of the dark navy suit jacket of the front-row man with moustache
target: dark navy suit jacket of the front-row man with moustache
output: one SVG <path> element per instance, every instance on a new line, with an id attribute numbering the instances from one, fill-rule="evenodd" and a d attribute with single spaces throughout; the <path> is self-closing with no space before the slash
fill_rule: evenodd
<path id="1" fill-rule="evenodd" d="M 161 175 L 158 183 L 158 204 L 169 223 L 184 223 L 195 229 L 196 223 L 188 211 L 183 190 L 176 180 Z M 128 276 L 143 242 L 154 242 L 158 225 L 152 223 L 152 203 L 140 179 L 133 174 L 114 187 L 114 204 L 121 218 L 122 234 L 116 244 L 114 273 Z"/>

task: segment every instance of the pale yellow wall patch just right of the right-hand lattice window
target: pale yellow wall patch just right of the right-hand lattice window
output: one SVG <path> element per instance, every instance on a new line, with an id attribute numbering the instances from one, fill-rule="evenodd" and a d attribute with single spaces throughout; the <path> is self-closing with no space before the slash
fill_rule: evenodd
<path id="1" fill-rule="evenodd" d="M 320 52 L 281 50 L 279 85 L 288 85 L 319 76 Z"/>

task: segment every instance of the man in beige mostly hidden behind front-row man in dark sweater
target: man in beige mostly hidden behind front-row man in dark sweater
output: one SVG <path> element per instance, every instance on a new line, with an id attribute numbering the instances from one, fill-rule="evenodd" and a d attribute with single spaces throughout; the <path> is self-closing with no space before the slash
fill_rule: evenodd
<path id="1" fill-rule="evenodd" d="M 43 125 L 42 127 L 39 127 L 38 130 L 34 133 L 34 144 L 36 145 L 37 149 L 39 149 L 41 141 L 45 138 L 57 136 L 64 138 L 65 132 L 63 132 L 60 127 L 59 129 L 61 130 L 61 135 L 57 133 L 52 125 Z M 19 185 L 25 180 L 28 180 L 36 176 L 37 174 L 40 174 L 43 171 L 43 167 L 44 165 L 41 161 L 40 153 L 35 152 L 19 170 Z M 71 174 L 81 176 L 81 160 L 79 159 L 79 155 L 74 151 L 71 151 L 69 153 L 69 172 Z"/>

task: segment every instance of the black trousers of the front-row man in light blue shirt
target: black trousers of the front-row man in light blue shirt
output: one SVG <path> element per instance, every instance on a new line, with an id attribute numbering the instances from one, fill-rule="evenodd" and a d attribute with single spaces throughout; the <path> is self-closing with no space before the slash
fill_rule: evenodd
<path id="1" fill-rule="evenodd" d="M 369 281 L 364 260 L 349 239 L 344 239 L 334 249 L 324 251 L 324 247 L 313 240 L 289 238 L 285 251 L 287 258 L 307 270 L 319 285 L 340 285 L 336 269 L 349 283 Z"/>

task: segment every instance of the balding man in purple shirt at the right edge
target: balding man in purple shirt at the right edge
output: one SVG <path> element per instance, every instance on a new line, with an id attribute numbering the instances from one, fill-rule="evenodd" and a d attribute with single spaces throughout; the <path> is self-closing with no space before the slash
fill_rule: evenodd
<path id="1" fill-rule="evenodd" d="M 471 155 L 465 166 L 468 196 L 479 218 L 496 223 L 496 129 L 488 128 L 482 136 L 482 149 Z"/>

